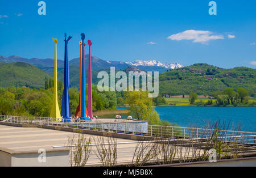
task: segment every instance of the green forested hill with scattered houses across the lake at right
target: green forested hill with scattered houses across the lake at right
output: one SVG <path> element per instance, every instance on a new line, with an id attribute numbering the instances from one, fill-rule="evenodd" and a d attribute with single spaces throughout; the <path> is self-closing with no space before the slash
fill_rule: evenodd
<path id="1" fill-rule="evenodd" d="M 213 91 L 224 90 L 226 87 L 239 87 L 256 96 L 256 69 L 235 67 L 221 69 L 206 63 L 174 69 L 159 75 L 159 92 L 168 95 L 210 95 Z"/>

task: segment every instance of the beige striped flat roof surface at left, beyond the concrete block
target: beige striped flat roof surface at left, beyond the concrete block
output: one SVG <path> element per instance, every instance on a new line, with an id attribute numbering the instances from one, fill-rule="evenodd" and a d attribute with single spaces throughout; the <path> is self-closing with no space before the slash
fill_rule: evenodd
<path id="1" fill-rule="evenodd" d="M 53 146 L 67 145 L 68 137 L 77 136 L 78 134 L 52 129 L 0 125 L 0 147 L 14 151 L 51 150 Z M 94 138 L 97 139 L 97 137 L 101 136 L 84 134 L 84 137 L 91 138 L 92 143 L 94 143 Z M 117 138 L 117 142 L 133 141 Z"/>

